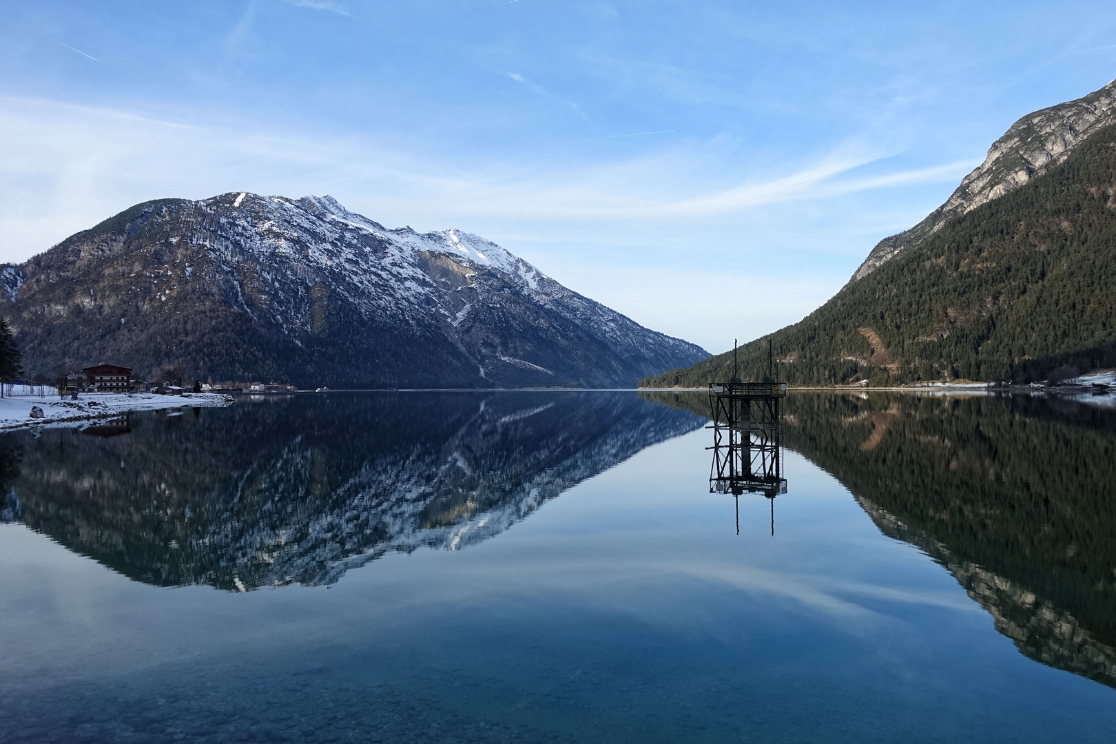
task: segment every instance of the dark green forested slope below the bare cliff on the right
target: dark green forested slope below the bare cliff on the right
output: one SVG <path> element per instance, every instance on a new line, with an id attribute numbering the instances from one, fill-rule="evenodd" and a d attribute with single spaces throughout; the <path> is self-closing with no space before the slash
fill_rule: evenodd
<path id="1" fill-rule="evenodd" d="M 1027 381 L 1064 365 L 1116 366 L 1116 126 L 743 346 L 744 379 L 767 370 L 769 340 L 792 385 Z M 642 385 L 728 379 L 732 357 Z"/>

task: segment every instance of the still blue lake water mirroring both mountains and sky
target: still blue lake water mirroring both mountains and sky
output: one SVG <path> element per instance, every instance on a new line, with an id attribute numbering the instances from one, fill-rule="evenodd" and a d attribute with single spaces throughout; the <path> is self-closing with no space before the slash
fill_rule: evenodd
<path id="1" fill-rule="evenodd" d="M 0 742 L 1116 741 L 1116 413 L 330 394 L 0 437 Z"/>

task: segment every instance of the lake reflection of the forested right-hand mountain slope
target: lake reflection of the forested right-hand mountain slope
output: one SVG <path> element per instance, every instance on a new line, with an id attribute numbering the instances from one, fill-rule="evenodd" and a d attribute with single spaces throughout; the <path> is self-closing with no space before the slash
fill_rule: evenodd
<path id="1" fill-rule="evenodd" d="M 702 394 L 644 394 L 708 417 Z M 1027 656 L 1116 687 L 1116 412 L 1068 400 L 787 397 L 786 445 L 917 545 Z"/>

